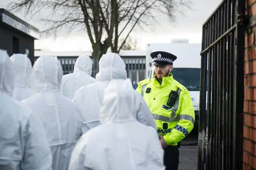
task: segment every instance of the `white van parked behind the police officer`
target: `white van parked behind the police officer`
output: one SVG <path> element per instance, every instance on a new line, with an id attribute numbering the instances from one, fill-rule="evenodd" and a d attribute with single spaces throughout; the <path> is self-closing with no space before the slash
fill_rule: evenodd
<path id="1" fill-rule="evenodd" d="M 166 51 L 176 55 L 177 59 L 173 63 L 171 73 L 175 80 L 189 90 L 195 110 L 195 126 L 198 126 L 201 44 L 190 44 L 188 41 L 178 41 L 178 43 L 150 43 L 147 44 L 146 50 L 146 78 L 152 78 L 154 76 L 154 67 L 152 66 L 150 53 L 154 51 Z"/>

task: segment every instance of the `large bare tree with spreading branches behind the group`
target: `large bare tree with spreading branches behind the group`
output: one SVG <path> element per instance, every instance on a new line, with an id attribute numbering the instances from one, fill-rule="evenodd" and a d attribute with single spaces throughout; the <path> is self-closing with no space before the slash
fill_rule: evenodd
<path id="1" fill-rule="evenodd" d="M 92 57 L 98 59 L 108 48 L 119 53 L 136 25 L 150 25 L 159 13 L 174 21 L 174 14 L 190 5 L 190 0 L 12 0 L 9 8 L 30 15 L 48 11 L 41 18 L 50 25 L 45 33 L 82 27 L 92 44 Z"/>

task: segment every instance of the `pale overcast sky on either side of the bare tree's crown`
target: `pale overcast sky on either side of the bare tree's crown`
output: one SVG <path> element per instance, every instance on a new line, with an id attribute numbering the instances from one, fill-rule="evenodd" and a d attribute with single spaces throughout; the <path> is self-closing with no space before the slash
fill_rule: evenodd
<path id="1" fill-rule="evenodd" d="M 137 27 L 131 33 L 131 39 L 137 40 L 137 49 L 145 50 L 147 43 L 170 43 L 172 39 L 186 38 L 189 43 L 201 43 L 202 24 L 212 14 L 222 0 L 191 0 L 192 10 L 187 10 L 185 16 L 178 16 L 176 23 L 170 23 L 166 17 L 158 16 L 158 23 L 152 22 L 154 30 L 140 30 Z M 0 8 L 6 8 L 10 0 L 0 0 Z M 27 18 L 20 12 L 12 12 L 22 20 L 42 30 L 44 25 L 37 18 Z M 68 36 L 60 35 L 41 37 L 35 41 L 35 49 L 45 51 L 88 51 L 91 50 L 90 41 L 85 32 L 72 33 Z"/>

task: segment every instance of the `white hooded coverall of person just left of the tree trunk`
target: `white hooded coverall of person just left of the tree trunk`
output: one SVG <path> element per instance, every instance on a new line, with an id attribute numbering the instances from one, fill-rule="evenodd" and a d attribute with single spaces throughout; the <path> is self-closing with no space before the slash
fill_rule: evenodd
<path id="1" fill-rule="evenodd" d="M 79 56 L 74 65 L 74 72 L 62 77 L 60 83 L 60 92 L 70 99 L 73 99 L 74 93 L 82 86 L 96 82 L 92 74 L 92 60 L 89 56 Z"/>

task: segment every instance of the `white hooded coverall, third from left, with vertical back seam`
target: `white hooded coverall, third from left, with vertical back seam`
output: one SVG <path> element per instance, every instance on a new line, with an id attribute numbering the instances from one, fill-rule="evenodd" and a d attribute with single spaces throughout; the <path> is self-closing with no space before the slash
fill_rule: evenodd
<path id="1" fill-rule="evenodd" d="M 71 152 L 82 133 L 78 109 L 74 102 L 60 94 L 62 74 L 57 57 L 39 57 L 31 73 L 32 96 L 22 101 L 39 115 L 44 124 L 53 155 L 53 170 L 68 168 Z"/>

